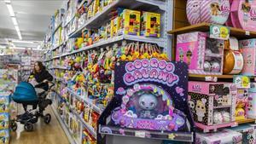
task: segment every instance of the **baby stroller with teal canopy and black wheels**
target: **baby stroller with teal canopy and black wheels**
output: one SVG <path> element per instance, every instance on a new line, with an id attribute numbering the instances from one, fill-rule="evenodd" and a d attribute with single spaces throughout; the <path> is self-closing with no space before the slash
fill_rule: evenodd
<path id="1" fill-rule="evenodd" d="M 32 84 L 27 82 L 21 82 L 15 88 L 14 94 L 11 96 L 16 103 L 23 105 L 25 110 L 24 113 L 17 115 L 10 123 L 10 128 L 12 130 L 17 130 L 17 123 L 24 124 L 24 129 L 26 131 L 33 130 L 33 124 L 38 122 L 38 118 L 44 118 L 44 123 L 49 124 L 51 116 L 49 113 L 44 115 L 44 110 L 48 105 L 51 105 L 52 101 L 47 99 L 50 89 L 53 88 L 55 84 L 49 82 L 49 89 L 37 95 L 36 90 Z M 27 111 L 27 105 L 32 105 L 32 110 Z"/>

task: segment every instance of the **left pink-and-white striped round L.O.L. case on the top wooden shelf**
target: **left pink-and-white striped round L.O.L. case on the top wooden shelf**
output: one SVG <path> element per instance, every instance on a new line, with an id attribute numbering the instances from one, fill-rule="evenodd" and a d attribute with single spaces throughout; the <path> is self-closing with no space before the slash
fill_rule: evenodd
<path id="1" fill-rule="evenodd" d="M 229 18 L 229 0 L 188 0 L 187 17 L 191 25 L 208 22 L 223 25 Z"/>

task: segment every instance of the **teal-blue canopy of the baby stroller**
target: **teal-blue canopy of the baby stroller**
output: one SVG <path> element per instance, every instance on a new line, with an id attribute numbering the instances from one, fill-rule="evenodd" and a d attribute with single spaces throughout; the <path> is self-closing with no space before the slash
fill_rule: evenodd
<path id="1" fill-rule="evenodd" d="M 13 100 L 17 103 L 26 103 L 32 101 L 38 101 L 38 95 L 36 90 L 27 82 L 21 82 L 15 88 L 15 93 L 12 96 Z"/>

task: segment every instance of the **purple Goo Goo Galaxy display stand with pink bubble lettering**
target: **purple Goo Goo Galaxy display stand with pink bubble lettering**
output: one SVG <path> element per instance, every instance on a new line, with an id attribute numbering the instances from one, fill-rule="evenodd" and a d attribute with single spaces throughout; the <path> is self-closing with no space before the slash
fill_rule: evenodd
<path id="1" fill-rule="evenodd" d="M 187 78 L 187 66 L 181 62 L 155 58 L 117 62 L 114 97 L 98 120 L 100 133 L 134 135 L 127 133 L 128 129 L 154 130 L 159 134 L 166 131 L 166 135 L 170 132 L 181 134 L 174 136 L 173 140 L 191 141 L 193 122 L 186 102 Z M 111 122 L 106 125 L 104 119 L 108 117 Z M 187 124 L 190 124 L 192 131 L 189 131 Z M 192 133 L 182 136 L 182 132 Z M 147 133 L 148 138 L 162 135 Z"/>

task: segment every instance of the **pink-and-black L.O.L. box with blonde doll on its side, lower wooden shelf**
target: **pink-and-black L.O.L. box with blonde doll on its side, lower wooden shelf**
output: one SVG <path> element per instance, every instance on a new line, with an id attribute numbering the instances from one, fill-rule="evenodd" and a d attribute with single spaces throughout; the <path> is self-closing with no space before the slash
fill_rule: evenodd
<path id="1" fill-rule="evenodd" d="M 189 107 L 195 125 L 205 132 L 236 125 L 236 85 L 190 81 Z"/>

